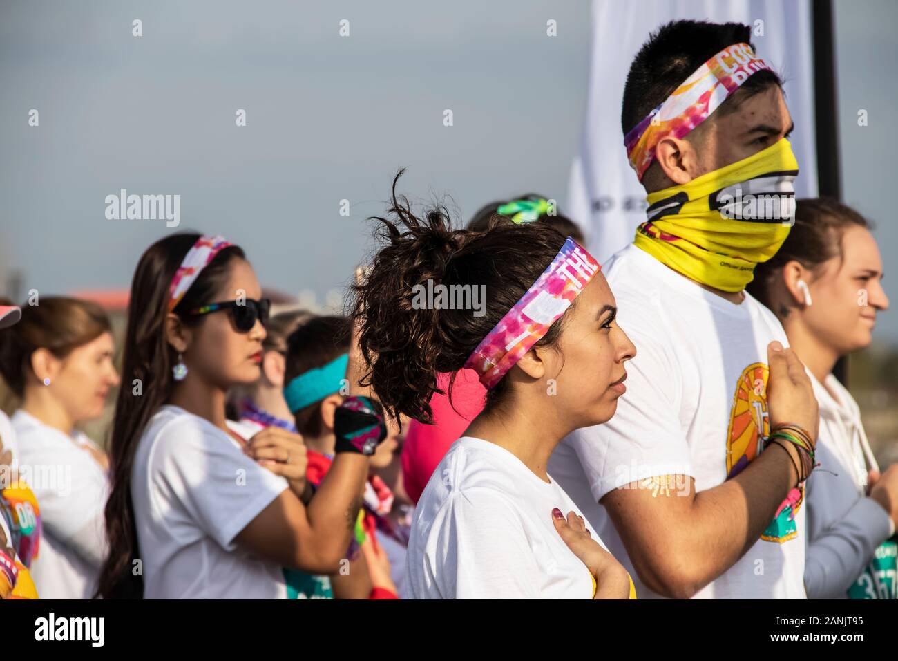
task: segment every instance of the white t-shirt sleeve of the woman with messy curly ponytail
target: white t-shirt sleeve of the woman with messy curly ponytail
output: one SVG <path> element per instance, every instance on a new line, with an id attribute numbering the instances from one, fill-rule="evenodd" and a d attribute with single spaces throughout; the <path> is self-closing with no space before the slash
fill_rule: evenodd
<path id="1" fill-rule="evenodd" d="M 493 491 L 467 489 L 446 504 L 428 565 L 445 596 L 456 599 L 537 599 L 541 569 L 515 507 Z M 428 544 L 428 546 L 431 546 Z M 433 546 L 431 548 L 434 548 Z"/>

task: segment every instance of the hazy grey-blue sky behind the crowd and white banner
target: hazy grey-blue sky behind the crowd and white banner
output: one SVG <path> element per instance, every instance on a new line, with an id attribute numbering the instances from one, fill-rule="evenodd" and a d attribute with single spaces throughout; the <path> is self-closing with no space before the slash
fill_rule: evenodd
<path id="1" fill-rule="evenodd" d="M 896 308 L 876 336 L 898 344 L 898 4 L 836 5 L 845 199 L 878 225 Z M 0 278 L 18 270 L 41 294 L 127 288 L 137 257 L 173 229 L 106 219 L 106 196 L 122 188 L 180 195 L 179 229 L 225 235 L 264 284 L 320 298 L 363 259 L 365 217 L 383 211 L 402 166 L 402 190 L 448 194 L 462 218 L 529 191 L 563 209 L 585 112 L 589 10 L 548 0 L 4 0 Z M 238 109 L 246 127 L 235 126 Z"/>

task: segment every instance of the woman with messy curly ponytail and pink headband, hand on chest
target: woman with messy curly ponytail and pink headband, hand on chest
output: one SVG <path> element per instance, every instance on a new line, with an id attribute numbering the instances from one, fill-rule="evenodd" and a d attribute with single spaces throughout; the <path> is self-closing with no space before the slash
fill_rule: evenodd
<path id="1" fill-rule="evenodd" d="M 635 353 L 599 264 L 546 224 L 456 229 L 442 207 L 418 217 L 398 178 L 376 219 L 383 246 L 355 286 L 364 382 L 391 415 L 422 423 L 437 374 L 467 367 L 488 390 L 418 501 L 413 596 L 626 598 L 627 572 L 546 472 L 565 435 L 613 415 Z"/>

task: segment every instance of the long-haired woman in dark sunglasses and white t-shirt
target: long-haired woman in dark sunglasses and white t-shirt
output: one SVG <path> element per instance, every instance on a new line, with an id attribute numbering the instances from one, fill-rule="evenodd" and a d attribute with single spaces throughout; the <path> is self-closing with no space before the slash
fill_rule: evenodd
<path id="1" fill-rule="evenodd" d="M 286 598 L 282 567 L 339 571 L 368 472 L 338 451 L 315 497 L 305 449 L 229 432 L 225 396 L 260 377 L 269 301 L 238 246 L 180 234 L 137 264 L 111 440 L 105 598 Z"/>

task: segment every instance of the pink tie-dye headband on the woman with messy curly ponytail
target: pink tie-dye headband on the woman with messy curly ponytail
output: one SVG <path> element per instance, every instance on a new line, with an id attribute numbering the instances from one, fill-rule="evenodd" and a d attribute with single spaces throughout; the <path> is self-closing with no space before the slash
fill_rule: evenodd
<path id="1" fill-rule="evenodd" d="M 464 366 L 480 374 L 480 383 L 492 389 L 546 335 L 601 269 L 593 255 L 568 237 L 549 268 L 489 331 Z"/>

